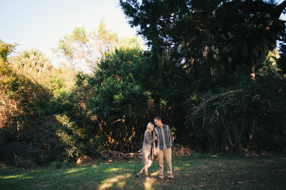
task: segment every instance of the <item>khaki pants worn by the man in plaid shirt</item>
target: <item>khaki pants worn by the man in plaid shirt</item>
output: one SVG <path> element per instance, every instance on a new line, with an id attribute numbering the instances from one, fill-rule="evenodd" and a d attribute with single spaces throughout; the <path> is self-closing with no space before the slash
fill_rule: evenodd
<path id="1" fill-rule="evenodd" d="M 159 165 L 159 178 L 164 178 L 164 157 L 167 165 L 167 172 L 168 172 L 168 178 L 174 177 L 172 174 L 172 150 L 171 148 L 167 150 L 159 150 L 156 148 L 156 151 L 158 152 L 158 165 Z"/>

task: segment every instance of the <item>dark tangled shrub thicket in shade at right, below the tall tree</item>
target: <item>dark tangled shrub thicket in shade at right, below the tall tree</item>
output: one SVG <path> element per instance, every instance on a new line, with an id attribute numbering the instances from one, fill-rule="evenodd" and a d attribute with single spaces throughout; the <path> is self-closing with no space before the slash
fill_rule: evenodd
<path id="1" fill-rule="evenodd" d="M 285 80 L 244 80 L 222 94 L 207 93 L 186 117 L 192 146 L 208 152 L 285 151 Z"/>

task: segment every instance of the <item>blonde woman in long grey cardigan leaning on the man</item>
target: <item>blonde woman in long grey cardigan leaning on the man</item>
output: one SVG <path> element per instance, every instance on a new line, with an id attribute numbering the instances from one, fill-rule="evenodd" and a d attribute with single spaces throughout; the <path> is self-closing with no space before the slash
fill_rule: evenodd
<path id="1" fill-rule="evenodd" d="M 148 175 L 148 167 L 153 162 L 153 149 L 152 149 L 152 143 L 157 140 L 157 137 L 152 137 L 152 131 L 154 130 L 154 123 L 150 122 L 147 125 L 147 130 L 144 134 L 144 142 L 142 145 L 142 165 L 144 167 L 140 172 L 137 173 L 136 177 L 141 179 L 141 174 L 145 172 L 145 179 L 150 180 L 150 177 Z"/>

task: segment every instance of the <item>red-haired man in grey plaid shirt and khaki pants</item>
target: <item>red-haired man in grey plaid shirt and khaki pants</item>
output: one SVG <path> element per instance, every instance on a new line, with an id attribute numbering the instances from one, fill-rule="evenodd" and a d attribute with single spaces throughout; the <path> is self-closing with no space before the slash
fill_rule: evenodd
<path id="1" fill-rule="evenodd" d="M 154 118 L 157 127 L 154 128 L 153 135 L 157 140 L 152 144 L 154 155 L 158 155 L 159 178 L 164 178 L 164 157 L 167 164 L 168 179 L 173 179 L 172 174 L 172 150 L 173 136 L 170 127 L 162 124 L 160 117 Z"/>

